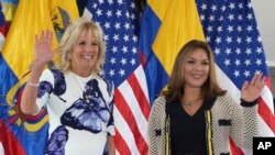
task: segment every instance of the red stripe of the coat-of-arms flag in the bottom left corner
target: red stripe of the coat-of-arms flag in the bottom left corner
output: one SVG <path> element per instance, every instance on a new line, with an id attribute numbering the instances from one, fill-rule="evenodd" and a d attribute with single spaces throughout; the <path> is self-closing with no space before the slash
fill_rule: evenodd
<path id="1" fill-rule="evenodd" d="M 2 142 L 6 155 L 26 155 L 24 148 L 0 119 L 0 141 Z"/>

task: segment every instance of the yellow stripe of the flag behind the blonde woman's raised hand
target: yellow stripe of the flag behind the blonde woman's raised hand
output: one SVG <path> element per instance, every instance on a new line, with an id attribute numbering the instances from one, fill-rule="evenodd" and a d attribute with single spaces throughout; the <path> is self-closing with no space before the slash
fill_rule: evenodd
<path id="1" fill-rule="evenodd" d="M 65 3 L 67 4 L 65 5 Z M 35 34 L 42 30 L 51 30 L 54 32 L 52 21 L 56 20 L 56 18 L 61 18 L 58 16 L 58 7 L 65 7 L 63 10 L 69 14 L 69 20 L 79 16 L 75 0 L 19 1 L 2 51 L 3 58 L 19 79 L 29 71 L 29 66 L 33 62 Z M 64 20 L 59 20 L 59 22 L 64 22 Z M 57 38 L 54 37 L 53 48 L 55 48 L 57 44 Z"/>

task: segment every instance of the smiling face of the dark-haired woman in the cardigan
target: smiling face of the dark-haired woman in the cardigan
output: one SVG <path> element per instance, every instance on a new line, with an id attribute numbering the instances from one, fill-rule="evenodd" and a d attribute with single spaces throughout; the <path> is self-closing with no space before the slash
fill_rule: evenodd
<path id="1" fill-rule="evenodd" d="M 209 76 L 209 58 L 202 48 L 193 49 L 184 65 L 185 88 L 201 88 Z"/>

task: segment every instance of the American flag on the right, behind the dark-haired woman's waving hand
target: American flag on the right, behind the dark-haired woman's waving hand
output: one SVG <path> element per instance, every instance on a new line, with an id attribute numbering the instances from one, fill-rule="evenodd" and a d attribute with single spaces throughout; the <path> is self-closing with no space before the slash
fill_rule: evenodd
<path id="1" fill-rule="evenodd" d="M 254 74 L 267 76 L 261 95 L 261 136 L 274 136 L 274 102 L 266 58 L 250 0 L 196 0 L 206 41 L 212 47 L 221 85 L 240 99 L 244 80 Z"/>

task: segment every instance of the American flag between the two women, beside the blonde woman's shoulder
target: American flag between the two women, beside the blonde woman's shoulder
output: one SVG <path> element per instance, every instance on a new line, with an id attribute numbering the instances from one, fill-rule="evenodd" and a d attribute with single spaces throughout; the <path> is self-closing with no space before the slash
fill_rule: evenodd
<path id="1" fill-rule="evenodd" d="M 147 86 L 138 52 L 138 10 L 134 0 L 89 0 L 84 16 L 105 32 L 105 76 L 116 85 L 114 125 L 117 154 L 147 154 Z"/>

